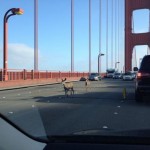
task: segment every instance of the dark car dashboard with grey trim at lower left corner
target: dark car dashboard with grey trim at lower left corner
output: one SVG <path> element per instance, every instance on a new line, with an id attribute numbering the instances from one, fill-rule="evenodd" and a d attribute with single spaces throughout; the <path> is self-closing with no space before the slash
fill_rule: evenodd
<path id="1" fill-rule="evenodd" d="M 85 140 L 86 139 L 86 140 Z M 88 140 L 87 140 L 88 139 Z M 97 139 L 97 140 L 95 140 Z M 128 143 L 128 141 L 130 141 Z M 49 142 L 33 139 L 0 117 L 0 150 L 149 150 L 150 138 L 105 139 L 88 136 L 53 137 Z"/>

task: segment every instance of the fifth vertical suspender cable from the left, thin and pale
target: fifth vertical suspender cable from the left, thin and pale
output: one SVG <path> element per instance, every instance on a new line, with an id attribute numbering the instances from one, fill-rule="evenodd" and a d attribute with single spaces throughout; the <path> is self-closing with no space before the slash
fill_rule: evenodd
<path id="1" fill-rule="evenodd" d="M 108 0 L 106 1 L 106 69 L 108 69 Z"/>

